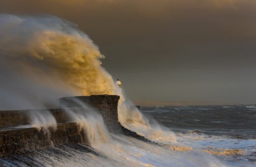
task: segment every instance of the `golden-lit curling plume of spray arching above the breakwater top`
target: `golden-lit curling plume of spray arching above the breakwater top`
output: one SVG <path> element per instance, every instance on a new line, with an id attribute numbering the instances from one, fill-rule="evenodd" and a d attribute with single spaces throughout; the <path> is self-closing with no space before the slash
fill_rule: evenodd
<path id="1" fill-rule="evenodd" d="M 8 68 L 40 84 L 75 95 L 122 98 L 100 66 L 104 56 L 98 47 L 76 25 L 57 17 L 0 15 L 0 54 Z"/>

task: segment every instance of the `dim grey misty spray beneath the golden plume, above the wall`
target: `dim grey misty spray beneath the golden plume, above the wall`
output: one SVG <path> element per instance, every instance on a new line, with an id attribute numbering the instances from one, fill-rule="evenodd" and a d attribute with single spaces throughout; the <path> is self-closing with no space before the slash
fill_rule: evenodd
<path id="1" fill-rule="evenodd" d="M 17 74 L 0 61 L 0 110 L 36 110 L 58 106 L 56 97 L 65 92 L 29 79 L 29 76 L 28 73 L 24 76 Z"/>

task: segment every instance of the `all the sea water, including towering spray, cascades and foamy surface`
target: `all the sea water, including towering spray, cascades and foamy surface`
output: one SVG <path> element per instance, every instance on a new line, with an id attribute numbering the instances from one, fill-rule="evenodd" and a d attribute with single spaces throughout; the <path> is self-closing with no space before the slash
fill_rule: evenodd
<path id="1" fill-rule="evenodd" d="M 0 157 L 0 166 L 256 166 L 256 106 L 157 106 L 140 112 L 125 104 L 125 93 L 101 67 L 104 56 L 75 24 L 49 15 L 0 15 L 0 25 L 1 110 L 45 109 L 67 95 L 116 94 L 121 124 L 155 142 L 111 134 L 102 117 L 69 112 L 90 142 L 24 150 Z M 50 113 L 32 119 L 37 129 L 56 126 Z"/>

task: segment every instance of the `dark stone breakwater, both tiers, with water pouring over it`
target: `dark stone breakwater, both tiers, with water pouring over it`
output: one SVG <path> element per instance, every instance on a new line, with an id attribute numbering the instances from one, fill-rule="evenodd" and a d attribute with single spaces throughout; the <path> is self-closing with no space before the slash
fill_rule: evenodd
<path id="1" fill-rule="evenodd" d="M 124 128 L 118 121 L 118 100 L 117 95 L 91 95 L 64 97 L 60 99 L 59 109 L 36 110 L 37 112 L 50 111 L 57 121 L 57 128 L 41 129 L 38 131 L 30 125 L 29 114 L 33 110 L 0 111 L 0 156 L 13 154 L 17 151 L 28 149 L 39 149 L 55 144 L 73 144 L 83 142 L 83 135 L 80 134 L 76 123 L 70 122 L 70 118 L 64 108 L 72 111 L 87 112 L 83 108 L 83 102 L 102 115 L 109 132 L 122 133 L 140 140 L 151 142 L 135 132 Z M 85 143 L 86 144 L 86 143 Z"/>

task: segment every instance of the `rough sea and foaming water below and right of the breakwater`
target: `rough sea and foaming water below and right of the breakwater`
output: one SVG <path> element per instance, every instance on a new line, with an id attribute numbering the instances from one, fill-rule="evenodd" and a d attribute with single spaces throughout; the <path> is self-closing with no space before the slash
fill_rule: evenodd
<path id="1" fill-rule="evenodd" d="M 1 157 L 0 165 L 7 167 L 256 166 L 256 122 L 254 121 L 256 107 L 254 106 L 157 106 L 142 107 L 141 112 L 149 124 L 129 120 L 127 126 L 155 143 L 122 134 L 100 133 L 101 131 L 92 128 L 90 131 L 93 135 L 90 136 L 94 142 L 90 145 L 58 144 L 37 150 L 24 150 L 15 155 Z M 153 124 L 156 126 L 152 126 Z M 102 128 L 104 125 L 100 126 Z M 100 138 L 95 141 L 95 136 Z"/>

